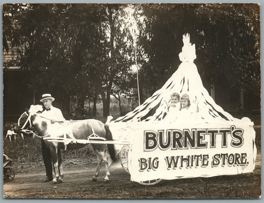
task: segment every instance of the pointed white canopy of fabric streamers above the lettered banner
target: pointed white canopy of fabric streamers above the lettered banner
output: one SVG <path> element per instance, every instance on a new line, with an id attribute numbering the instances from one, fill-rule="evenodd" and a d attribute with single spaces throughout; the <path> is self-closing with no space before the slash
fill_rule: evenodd
<path id="1" fill-rule="evenodd" d="M 172 93 L 178 93 L 180 97 L 185 94 L 188 95 L 190 98 L 190 107 L 197 109 L 193 117 L 193 121 L 196 123 L 243 121 L 253 125 L 249 118 L 243 118 L 242 120 L 234 118 L 215 103 L 208 91 L 204 88 L 197 66 L 193 62 L 196 58 L 195 44 L 192 45 L 190 43 L 190 35 L 188 33 L 183 35 L 183 44 L 182 52 L 179 53 L 179 58 L 182 63 L 165 84 L 133 111 L 128 112 L 126 115 L 110 123 L 183 122 L 182 119 L 166 119 L 168 113 L 166 103 L 170 101 Z"/>

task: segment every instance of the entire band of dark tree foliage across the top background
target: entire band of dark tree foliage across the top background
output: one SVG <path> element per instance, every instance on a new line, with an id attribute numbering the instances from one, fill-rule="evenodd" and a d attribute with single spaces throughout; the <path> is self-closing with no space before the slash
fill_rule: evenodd
<path id="1" fill-rule="evenodd" d="M 23 79 L 29 87 L 77 97 L 80 108 L 100 96 L 104 116 L 110 94 L 127 92 L 135 81 L 134 61 L 141 87 L 154 92 L 164 84 L 181 62 L 186 33 L 202 80 L 225 75 L 231 85 L 260 93 L 258 4 L 3 4 L 3 49 L 11 41 L 18 65 L 36 70 Z"/>

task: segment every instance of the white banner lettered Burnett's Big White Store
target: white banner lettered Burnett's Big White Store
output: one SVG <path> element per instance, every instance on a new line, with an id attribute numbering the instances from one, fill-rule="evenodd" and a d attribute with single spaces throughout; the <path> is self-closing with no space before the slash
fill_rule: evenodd
<path id="1" fill-rule="evenodd" d="M 131 181 L 236 175 L 255 168 L 253 126 L 146 123 L 131 133 Z"/>

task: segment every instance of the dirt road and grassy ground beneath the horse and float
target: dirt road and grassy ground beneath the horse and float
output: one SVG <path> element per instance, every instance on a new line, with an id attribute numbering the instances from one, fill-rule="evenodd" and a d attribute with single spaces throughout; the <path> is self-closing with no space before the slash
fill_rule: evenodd
<path id="1" fill-rule="evenodd" d="M 261 195 L 261 153 L 257 155 L 253 173 L 211 178 L 162 180 L 154 186 L 130 181 L 130 175 L 119 162 L 110 167 L 110 181 L 104 183 L 102 166 L 97 182 L 92 182 L 95 165 L 64 160 L 63 183 L 44 183 L 42 163 L 13 167 L 15 178 L 3 184 L 4 198 L 259 198 Z"/>

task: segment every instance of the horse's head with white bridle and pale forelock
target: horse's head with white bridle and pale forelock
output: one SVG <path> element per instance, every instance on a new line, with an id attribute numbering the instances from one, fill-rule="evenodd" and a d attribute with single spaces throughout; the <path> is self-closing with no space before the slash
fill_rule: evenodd
<path id="1" fill-rule="evenodd" d="M 29 110 L 22 113 L 22 115 L 18 119 L 17 126 L 19 131 L 27 129 L 29 126 L 31 127 L 31 116 L 37 113 L 41 113 L 42 111 L 42 105 L 31 105 Z"/>

